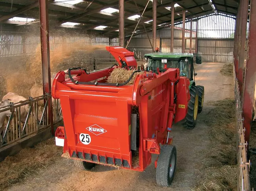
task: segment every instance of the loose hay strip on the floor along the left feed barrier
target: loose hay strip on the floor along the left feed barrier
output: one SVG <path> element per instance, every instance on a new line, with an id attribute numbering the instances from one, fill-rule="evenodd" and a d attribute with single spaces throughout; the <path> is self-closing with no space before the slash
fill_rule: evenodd
<path id="1" fill-rule="evenodd" d="M 25 177 L 33 177 L 37 170 L 57 161 L 62 149 L 55 145 L 52 138 L 39 143 L 34 148 L 22 149 L 15 156 L 6 157 L 0 162 L 0 190 L 7 189 Z"/>

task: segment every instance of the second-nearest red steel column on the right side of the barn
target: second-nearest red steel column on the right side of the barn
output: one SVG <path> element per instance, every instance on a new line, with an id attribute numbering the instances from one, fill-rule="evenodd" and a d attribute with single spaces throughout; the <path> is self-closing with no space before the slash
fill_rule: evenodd
<path id="1" fill-rule="evenodd" d="M 248 0 L 243 0 L 243 11 L 242 11 L 242 22 L 241 22 L 241 36 L 240 36 L 240 53 L 238 62 L 238 84 L 240 93 L 242 93 L 243 87 L 243 69 L 244 69 L 244 56 L 245 56 L 245 40 L 246 40 L 246 29 L 248 19 Z"/>

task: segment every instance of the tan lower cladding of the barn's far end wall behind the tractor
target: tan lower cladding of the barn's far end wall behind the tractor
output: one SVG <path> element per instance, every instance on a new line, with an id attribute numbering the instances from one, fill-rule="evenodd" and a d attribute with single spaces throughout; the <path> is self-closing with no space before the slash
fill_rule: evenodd
<path id="1" fill-rule="evenodd" d="M 152 36 L 152 33 L 148 33 Z M 129 39 L 126 39 L 126 43 Z M 152 39 L 150 39 L 152 42 Z M 171 30 L 163 28 L 157 30 L 157 46 L 160 52 L 170 52 L 171 49 Z M 185 30 L 185 52 L 189 52 L 190 31 Z M 198 39 L 198 54 L 202 56 L 203 62 L 233 62 L 233 39 Z M 129 44 L 130 51 L 135 53 L 135 58 L 143 59 L 143 55 L 152 52 L 149 40 L 145 33 L 138 34 L 131 39 Z M 182 30 L 174 30 L 173 52 L 182 52 Z M 195 52 L 195 32 L 192 32 L 192 53 Z"/>

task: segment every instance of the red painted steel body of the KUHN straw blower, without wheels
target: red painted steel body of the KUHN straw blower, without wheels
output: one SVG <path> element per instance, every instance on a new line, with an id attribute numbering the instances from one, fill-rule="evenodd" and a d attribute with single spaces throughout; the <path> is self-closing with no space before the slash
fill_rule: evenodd
<path id="1" fill-rule="evenodd" d="M 122 57 L 125 52 L 124 48 L 114 49 L 115 52 L 111 51 L 112 47 L 107 49 L 115 58 Z M 134 64 L 131 58 L 125 60 L 127 65 Z M 102 75 L 108 77 L 112 70 L 90 74 L 76 72 L 74 79 L 89 82 Z M 133 85 L 119 87 L 74 84 L 70 79 L 65 79 L 64 72 L 59 72 L 53 81 L 52 95 L 60 99 L 62 106 L 66 137 L 63 152 L 68 150 L 70 156 L 75 158 L 82 153 L 82 158 L 81 155 L 79 158 L 89 162 L 96 161 L 86 159 L 86 155 L 91 158 L 97 156 L 98 161 L 104 157 L 111 159 L 114 165 L 118 159 L 122 162 L 122 168 L 143 171 L 151 163 L 151 154 L 160 153 L 159 144 L 166 144 L 167 131 L 171 131 L 174 117 L 175 122 L 185 117 L 190 99 L 188 87 L 188 79 L 180 77 L 179 69 L 137 75 Z M 176 103 L 185 107 L 175 103 L 175 94 L 179 95 Z M 131 152 L 133 106 L 139 110 L 139 166 L 136 167 L 132 166 Z M 81 136 L 87 135 L 90 141 L 88 139 L 89 144 L 85 145 Z M 170 136 L 168 144 L 172 144 Z M 128 166 L 125 165 L 126 161 Z M 105 161 L 101 164 L 111 163 Z"/>

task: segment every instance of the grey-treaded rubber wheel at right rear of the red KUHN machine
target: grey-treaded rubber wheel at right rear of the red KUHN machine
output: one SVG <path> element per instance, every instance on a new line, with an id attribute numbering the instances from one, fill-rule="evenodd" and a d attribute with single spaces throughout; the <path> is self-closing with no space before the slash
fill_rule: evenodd
<path id="1" fill-rule="evenodd" d="M 170 186 L 175 174 L 177 153 L 173 145 L 163 145 L 158 156 L 156 180 L 160 186 Z"/>

